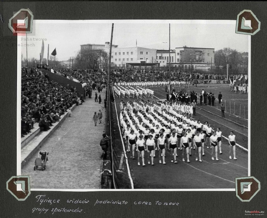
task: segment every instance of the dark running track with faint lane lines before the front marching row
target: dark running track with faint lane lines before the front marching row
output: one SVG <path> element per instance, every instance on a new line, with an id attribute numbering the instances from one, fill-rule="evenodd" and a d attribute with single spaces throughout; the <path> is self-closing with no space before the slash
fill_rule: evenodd
<path id="1" fill-rule="evenodd" d="M 120 100 L 122 99 L 115 98 L 117 109 Z M 127 101 L 128 99 L 125 98 L 124 100 Z M 130 100 L 134 99 L 131 98 Z M 119 110 L 117 111 L 119 115 Z M 213 117 L 213 119 L 216 120 L 217 117 Z M 213 161 L 211 149 L 207 149 L 205 146 L 203 162 L 195 160 L 195 150 L 192 150 L 190 163 L 182 161 L 182 151 L 178 150 L 177 164 L 170 161 L 170 152 L 166 151 L 165 165 L 159 163 L 158 151 L 156 151 L 154 166 L 148 164 L 148 153 L 145 152 L 145 167 L 142 164 L 137 165 L 137 152 L 135 160 L 131 159 L 130 153 L 128 153 L 134 189 L 234 189 L 235 178 L 248 175 L 248 153 L 237 147 L 236 157 L 238 160 L 234 161 L 229 159 L 228 149 L 228 142 L 223 139 L 223 153 L 218 154 L 219 161 Z"/>

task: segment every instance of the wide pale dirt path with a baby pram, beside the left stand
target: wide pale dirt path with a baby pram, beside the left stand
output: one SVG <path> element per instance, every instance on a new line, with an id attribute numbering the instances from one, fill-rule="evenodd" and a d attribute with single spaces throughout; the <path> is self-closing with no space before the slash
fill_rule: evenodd
<path id="1" fill-rule="evenodd" d="M 22 175 L 30 175 L 33 189 L 99 189 L 99 158 L 102 150 L 99 142 L 104 130 L 103 122 L 95 127 L 92 120 L 104 104 L 87 98 L 79 105 L 40 150 L 49 152 L 45 171 L 34 171 L 34 160 L 38 152 L 21 169 Z"/>

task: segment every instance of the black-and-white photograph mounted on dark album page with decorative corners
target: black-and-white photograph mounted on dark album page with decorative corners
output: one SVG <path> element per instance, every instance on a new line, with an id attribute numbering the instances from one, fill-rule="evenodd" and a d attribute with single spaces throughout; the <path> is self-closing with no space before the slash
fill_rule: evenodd
<path id="1" fill-rule="evenodd" d="M 234 192 L 250 176 L 251 36 L 235 20 L 33 29 L 17 38 L 17 173 L 31 190 Z"/>

